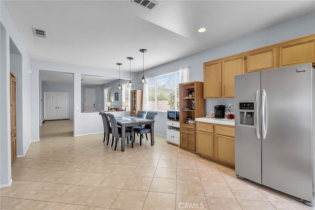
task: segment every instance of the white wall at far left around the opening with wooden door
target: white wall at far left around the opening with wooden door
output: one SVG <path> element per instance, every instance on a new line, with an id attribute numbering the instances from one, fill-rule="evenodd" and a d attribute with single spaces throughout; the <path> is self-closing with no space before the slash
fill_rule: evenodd
<path id="1" fill-rule="evenodd" d="M 20 124 L 19 128 L 22 140 L 21 144 L 17 145 L 17 155 L 23 156 L 30 143 L 31 143 L 31 75 L 30 70 L 30 59 L 25 49 L 22 40 L 12 22 L 10 15 L 8 14 L 5 5 L 0 1 L 0 20 L 1 20 L 1 44 L 0 44 L 0 60 L 1 60 L 1 160 L 0 160 L 0 187 L 8 186 L 11 183 L 11 144 L 10 144 L 10 109 L 9 109 L 9 75 L 10 75 L 10 55 L 9 55 L 9 42 L 10 38 L 17 47 L 18 51 L 22 55 L 22 69 L 19 74 L 21 75 L 20 85 L 22 85 L 22 92 L 20 98 L 21 103 L 17 104 L 17 109 L 21 109 Z M 22 71 L 22 72 L 21 72 Z M 38 82 L 37 82 L 38 83 Z M 22 100 L 21 100 L 22 97 Z M 38 106 L 37 106 L 38 107 Z"/>

